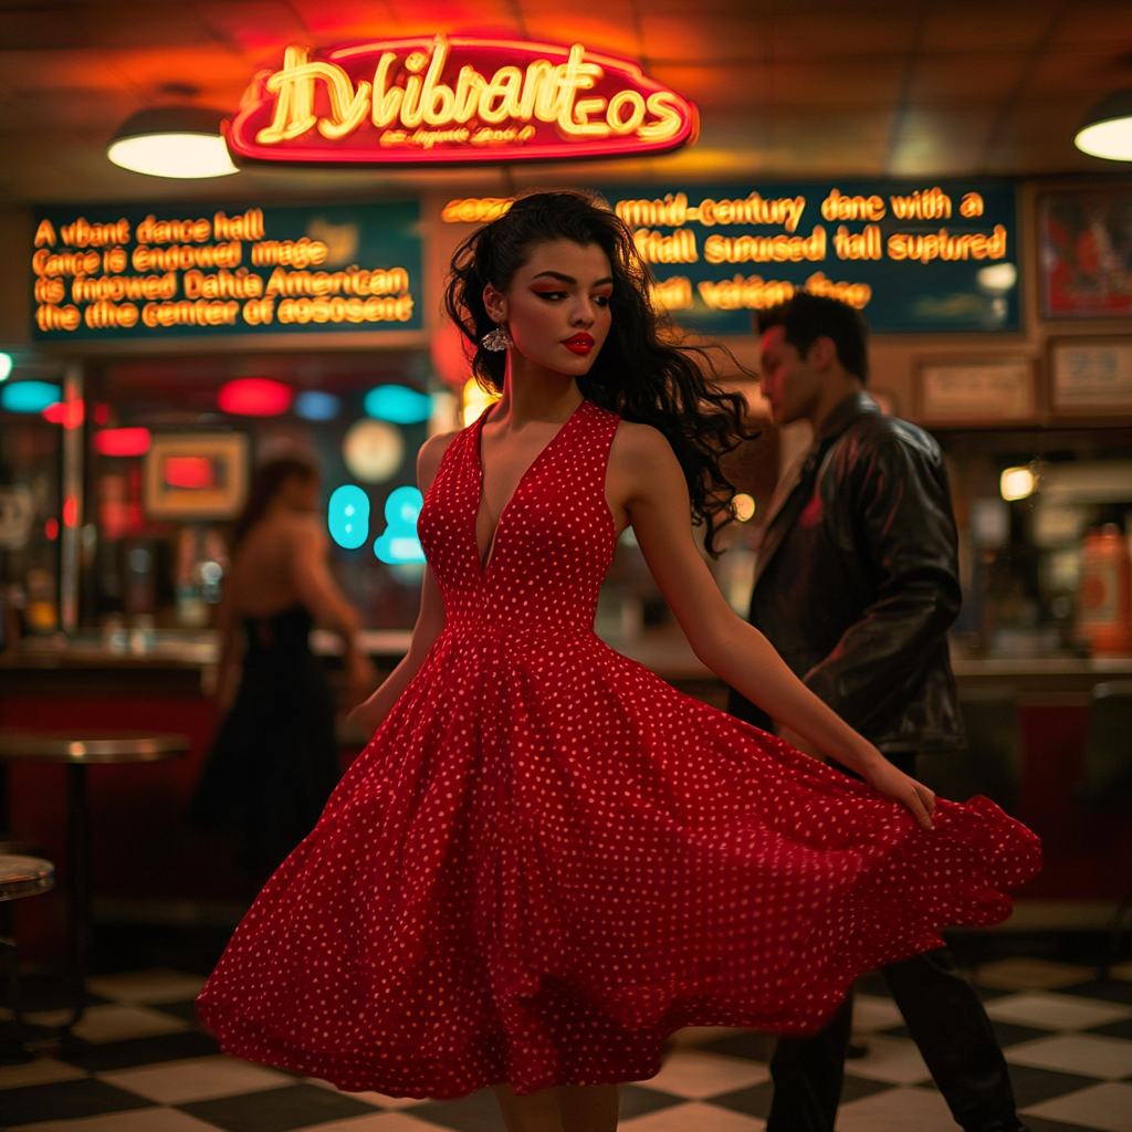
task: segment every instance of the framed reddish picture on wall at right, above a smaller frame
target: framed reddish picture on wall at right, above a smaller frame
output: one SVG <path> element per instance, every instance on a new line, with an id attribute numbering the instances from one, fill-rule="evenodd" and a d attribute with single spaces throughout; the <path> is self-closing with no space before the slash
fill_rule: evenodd
<path id="1" fill-rule="evenodd" d="M 1132 317 L 1132 188 L 1039 198 L 1046 318 Z"/>

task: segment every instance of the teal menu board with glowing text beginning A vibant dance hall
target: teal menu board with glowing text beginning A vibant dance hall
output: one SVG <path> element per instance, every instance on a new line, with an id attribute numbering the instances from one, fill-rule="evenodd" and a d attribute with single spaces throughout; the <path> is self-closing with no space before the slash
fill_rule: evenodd
<path id="1" fill-rule="evenodd" d="M 40 341 L 420 329 L 415 201 L 51 208 L 36 217 Z"/>

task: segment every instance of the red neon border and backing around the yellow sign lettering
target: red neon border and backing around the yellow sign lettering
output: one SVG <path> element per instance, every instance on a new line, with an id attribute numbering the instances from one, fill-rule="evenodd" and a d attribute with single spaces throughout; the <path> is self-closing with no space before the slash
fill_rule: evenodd
<path id="1" fill-rule="evenodd" d="M 567 59 L 571 48 L 531 43 L 516 40 L 494 40 L 474 36 L 446 36 L 448 48 L 453 51 L 478 50 L 488 55 L 503 57 L 498 62 L 515 66 L 518 62 L 530 63 L 535 59 L 561 62 Z M 438 42 L 435 36 L 414 36 L 403 40 L 377 40 L 371 43 L 351 44 L 319 52 L 314 61 L 341 65 L 359 55 L 378 55 L 381 52 L 403 52 L 408 55 L 413 51 L 431 52 Z M 620 78 L 625 88 L 644 97 L 663 94 L 670 100 L 670 106 L 680 119 L 675 135 L 661 140 L 645 140 L 629 135 L 609 138 L 582 138 L 568 140 L 560 135 L 554 140 L 535 139 L 533 144 L 515 145 L 506 142 L 469 146 L 466 148 L 394 148 L 381 146 L 378 140 L 379 127 L 365 121 L 357 131 L 336 142 L 319 137 L 311 128 L 301 138 L 285 140 L 275 145 L 263 145 L 256 140 L 256 135 L 271 121 L 276 95 L 267 91 L 267 80 L 273 70 L 259 71 L 251 82 L 245 95 L 243 105 L 230 120 L 224 122 L 224 136 L 233 155 L 242 158 L 271 164 L 354 164 L 354 165 L 462 165 L 482 164 L 495 161 L 576 161 L 590 157 L 633 156 L 640 154 L 671 153 L 681 146 L 694 144 L 698 135 L 698 111 L 693 102 L 677 94 L 670 87 L 650 78 L 641 67 L 625 59 L 611 55 L 584 52 L 586 63 L 595 63 L 604 72 L 602 80 Z M 498 63 L 497 63 L 498 65 Z M 357 74 L 350 75 L 352 82 L 358 82 Z M 453 80 L 454 82 L 454 80 Z M 540 125 L 552 129 L 549 123 Z M 411 130 L 406 131 L 411 132 Z M 359 144 L 357 135 L 367 138 L 366 144 Z M 315 143 L 315 144 L 311 144 Z"/>

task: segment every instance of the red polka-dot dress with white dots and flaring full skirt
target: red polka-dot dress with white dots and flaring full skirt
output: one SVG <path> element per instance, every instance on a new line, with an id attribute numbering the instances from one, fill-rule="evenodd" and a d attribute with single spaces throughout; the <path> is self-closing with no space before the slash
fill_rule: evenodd
<path id="1" fill-rule="evenodd" d="M 813 1032 L 1036 872 L 990 801 L 924 832 L 594 635 L 617 423 L 582 402 L 486 569 L 482 418 L 449 446 L 419 526 L 446 627 L 198 1000 L 228 1053 L 409 1097 L 641 1080 L 681 1026 Z"/>

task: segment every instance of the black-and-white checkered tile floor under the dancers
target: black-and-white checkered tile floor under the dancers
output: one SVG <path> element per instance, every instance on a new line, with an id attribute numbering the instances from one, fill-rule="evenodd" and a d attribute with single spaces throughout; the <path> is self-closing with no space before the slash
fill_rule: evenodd
<path id="1" fill-rule="evenodd" d="M 196 976 L 149 970 L 91 979 L 95 1005 L 71 1055 L 0 1066 L 6 1132 L 501 1132 L 489 1094 L 458 1101 L 343 1094 L 225 1057 L 195 1020 Z M 1105 983 L 1087 968 L 1012 959 L 978 983 L 1032 1132 L 1132 1132 L 1132 964 Z M 848 1063 L 839 1132 L 954 1132 L 880 979 L 857 1000 L 868 1054 Z M 34 996 L 36 987 L 31 988 Z M 41 997 L 40 1007 L 59 1006 Z M 29 1015 L 58 1024 L 61 1010 Z M 33 1034 L 35 1031 L 33 1030 Z M 46 1034 L 46 1030 L 40 1031 Z M 687 1030 L 661 1073 L 623 1089 L 632 1132 L 755 1132 L 771 1097 L 773 1039 Z"/>

